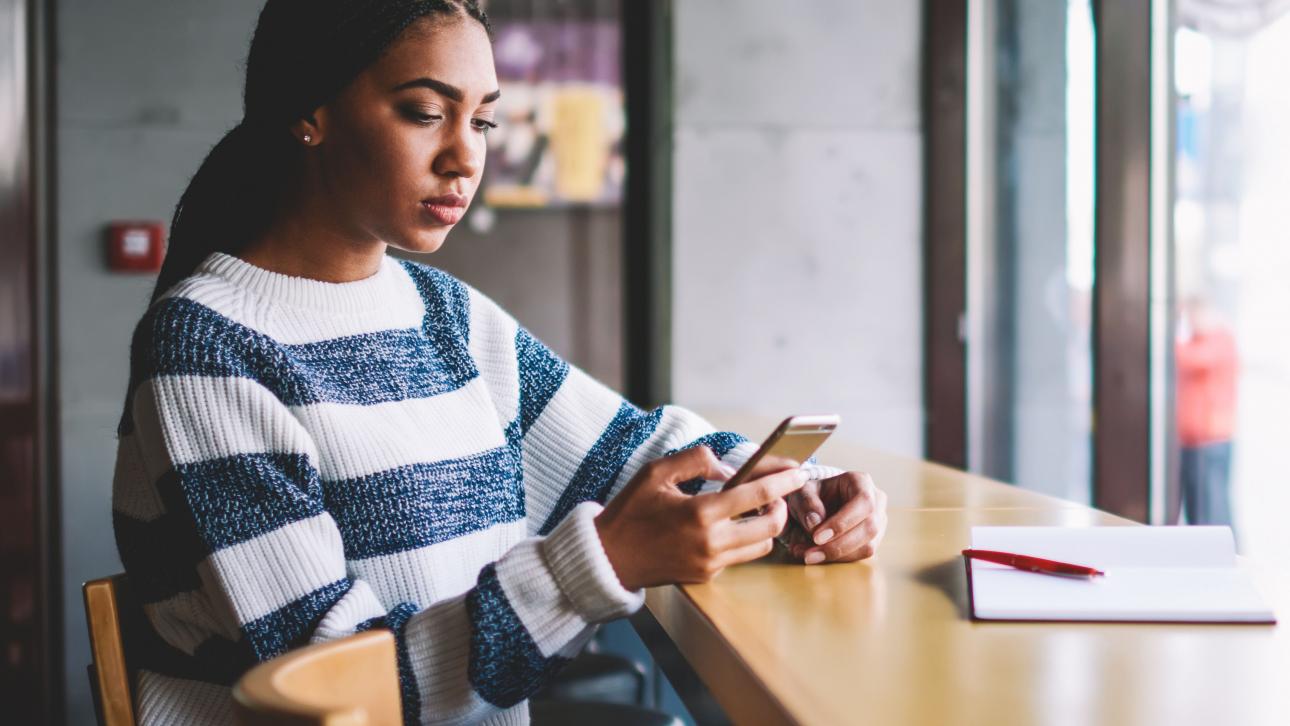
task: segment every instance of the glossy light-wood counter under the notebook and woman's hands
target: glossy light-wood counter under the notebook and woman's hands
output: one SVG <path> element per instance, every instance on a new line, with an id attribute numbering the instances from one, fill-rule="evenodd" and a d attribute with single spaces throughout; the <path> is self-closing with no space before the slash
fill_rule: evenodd
<path id="1" fill-rule="evenodd" d="M 710 418 L 753 438 L 775 423 Z M 804 566 L 777 548 L 648 593 L 645 618 L 735 723 L 1290 723 L 1286 573 L 1260 567 L 1281 625 L 974 623 L 971 526 L 1135 525 L 845 442 L 819 458 L 889 493 L 876 558 Z"/>

